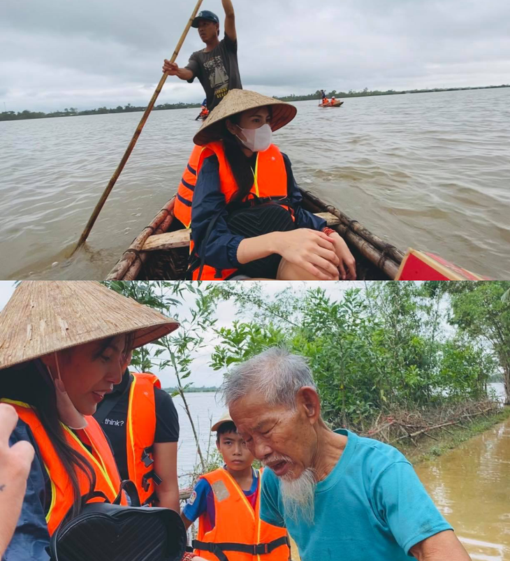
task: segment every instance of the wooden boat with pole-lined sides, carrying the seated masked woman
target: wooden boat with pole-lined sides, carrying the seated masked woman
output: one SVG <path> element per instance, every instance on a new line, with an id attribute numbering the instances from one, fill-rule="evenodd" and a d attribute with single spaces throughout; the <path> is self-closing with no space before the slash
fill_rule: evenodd
<path id="1" fill-rule="evenodd" d="M 333 230 L 342 235 L 356 258 L 358 279 L 395 279 L 404 253 L 358 221 L 337 208 L 303 191 L 303 207 L 322 214 Z M 173 214 L 175 197 L 161 209 L 149 226 L 117 262 L 107 280 L 179 280 L 184 279 L 189 258 L 189 230 Z"/>

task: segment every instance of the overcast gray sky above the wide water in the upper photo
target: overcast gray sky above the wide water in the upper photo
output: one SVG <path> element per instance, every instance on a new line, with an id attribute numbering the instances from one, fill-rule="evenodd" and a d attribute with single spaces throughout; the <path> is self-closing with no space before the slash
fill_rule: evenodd
<path id="1" fill-rule="evenodd" d="M 263 94 L 510 82 L 509 0 L 233 0 Z M 146 105 L 195 0 L 1 0 L 0 111 Z M 224 16 L 220 0 L 203 9 Z M 203 44 L 191 29 L 180 66 Z M 168 78 L 159 102 L 201 101 Z"/>

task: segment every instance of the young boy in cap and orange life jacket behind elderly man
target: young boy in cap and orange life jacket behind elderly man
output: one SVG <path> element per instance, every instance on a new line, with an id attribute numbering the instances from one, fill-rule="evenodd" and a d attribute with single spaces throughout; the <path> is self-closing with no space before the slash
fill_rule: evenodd
<path id="1" fill-rule="evenodd" d="M 261 471 L 231 417 L 213 427 L 224 467 L 201 476 L 181 518 L 188 529 L 198 518 L 194 553 L 212 561 L 288 561 L 286 530 L 259 517 Z"/>

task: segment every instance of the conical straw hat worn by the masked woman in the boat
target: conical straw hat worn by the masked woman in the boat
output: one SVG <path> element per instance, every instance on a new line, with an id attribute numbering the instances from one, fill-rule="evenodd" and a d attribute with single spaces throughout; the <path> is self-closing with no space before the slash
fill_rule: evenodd
<path id="1" fill-rule="evenodd" d="M 265 107 L 267 105 L 272 105 L 272 119 L 270 122 L 272 131 L 277 131 L 282 126 L 290 123 L 298 112 L 294 105 L 286 103 L 286 101 L 279 101 L 273 97 L 250 92 L 249 89 L 231 89 L 203 122 L 203 125 L 193 139 L 194 143 L 203 146 L 213 140 L 218 140 L 221 137 L 221 122 L 224 119 L 248 109 Z"/>

